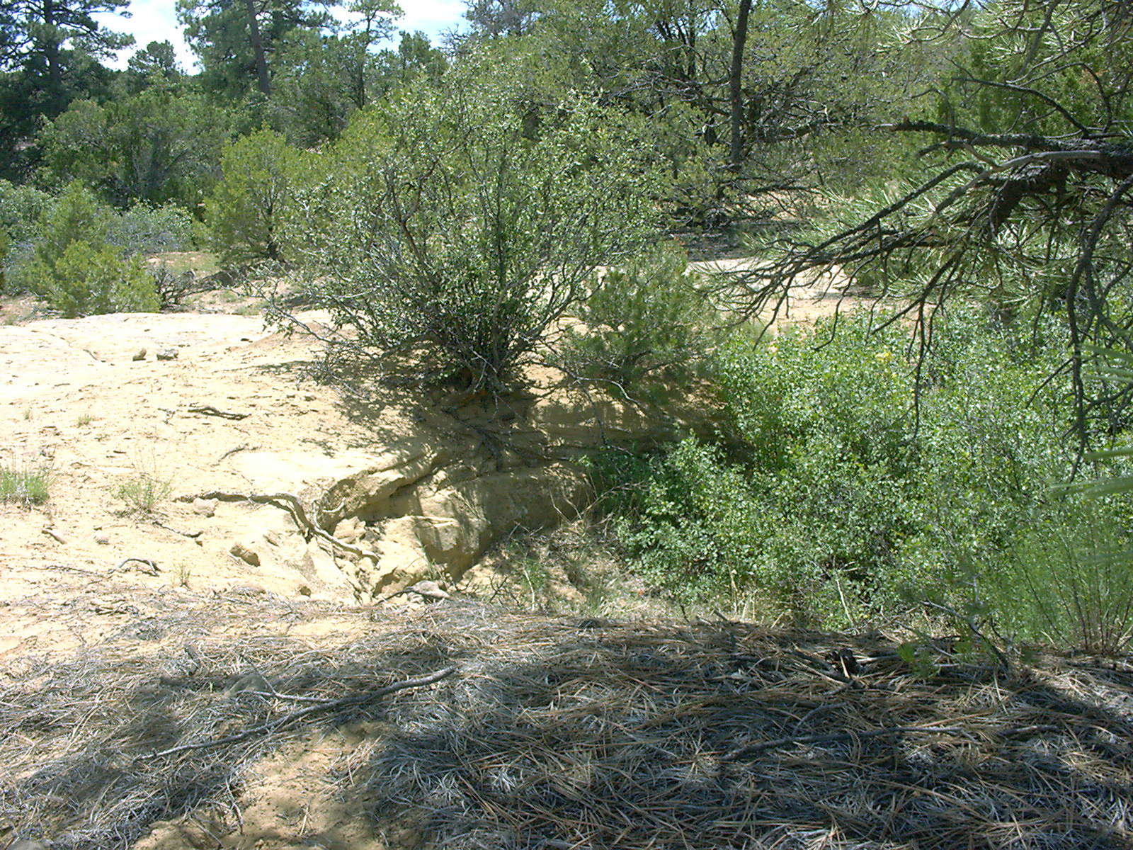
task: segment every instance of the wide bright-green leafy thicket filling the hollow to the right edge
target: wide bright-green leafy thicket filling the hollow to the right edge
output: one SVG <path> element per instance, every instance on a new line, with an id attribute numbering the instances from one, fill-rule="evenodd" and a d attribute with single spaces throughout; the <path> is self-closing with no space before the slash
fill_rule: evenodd
<path id="1" fill-rule="evenodd" d="M 1060 330 L 953 313 L 919 417 L 900 328 L 826 330 L 724 348 L 713 443 L 595 459 L 653 584 L 690 600 L 757 594 L 832 624 L 935 601 L 1005 635 L 1100 646 L 1127 632 L 1133 567 L 1102 570 L 1088 553 L 1128 547 L 1133 509 L 1051 490 L 1075 460 L 1067 388 L 1045 383 Z"/>

